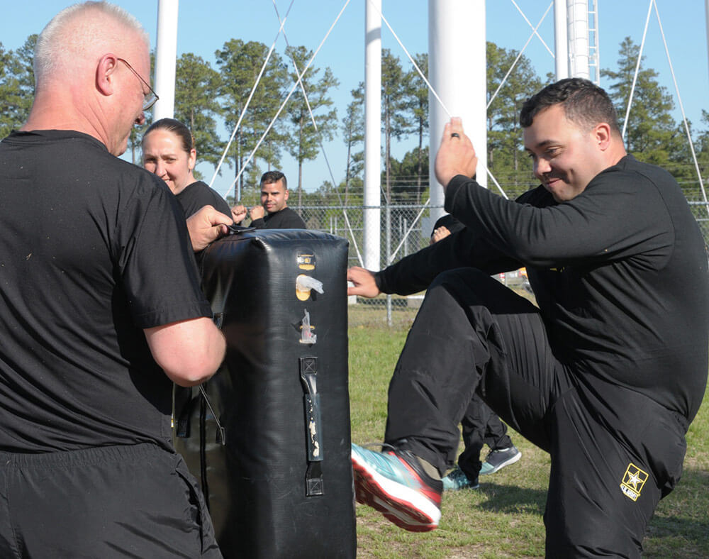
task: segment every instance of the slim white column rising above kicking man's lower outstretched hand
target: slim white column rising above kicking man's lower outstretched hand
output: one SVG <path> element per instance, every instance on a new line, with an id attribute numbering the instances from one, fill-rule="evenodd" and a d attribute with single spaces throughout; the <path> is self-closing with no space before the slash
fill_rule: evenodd
<path id="1" fill-rule="evenodd" d="M 381 244 L 381 0 L 364 9 L 364 267 L 379 270 Z"/>

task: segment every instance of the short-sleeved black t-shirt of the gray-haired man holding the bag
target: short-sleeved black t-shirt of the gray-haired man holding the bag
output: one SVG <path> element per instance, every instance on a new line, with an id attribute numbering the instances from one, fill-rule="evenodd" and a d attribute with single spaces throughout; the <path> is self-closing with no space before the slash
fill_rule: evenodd
<path id="1" fill-rule="evenodd" d="M 143 328 L 211 316 L 172 192 L 89 135 L 36 131 L 0 143 L 0 197 L 0 449 L 172 448 Z"/>

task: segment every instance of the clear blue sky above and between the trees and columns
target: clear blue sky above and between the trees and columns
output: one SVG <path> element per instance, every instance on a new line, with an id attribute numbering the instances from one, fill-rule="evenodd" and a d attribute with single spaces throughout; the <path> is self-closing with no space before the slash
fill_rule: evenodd
<path id="1" fill-rule="evenodd" d="M 462 0 L 464 1 L 464 0 Z M 533 24 L 540 20 L 551 0 L 515 0 Z M 3 0 L 0 19 L 0 42 L 6 49 L 20 47 L 31 33 L 39 33 L 57 11 L 73 4 L 69 0 Z M 155 43 L 157 0 L 115 0 L 133 13 L 150 33 Z M 291 0 L 276 0 L 281 17 L 288 11 Z M 428 0 L 382 0 L 384 17 L 389 21 L 402 43 L 412 54 L 428 50 Z M 286 22 L 285 32 L 291 45 L 305 45 L 315 50 L 340 12 L 345 0 L 294 0 Z M 601 67 L 615 69 L 618 46 L 630 35 L 640 44 L 647 17 L 649 0 L 598 0 L 598 22 Z M 700 127 L 702 109 L 709 110 L 709 70 L 704 3 L 698 0 L 657 0 L 662 28 L 668 43 L 669 55 L 676 74 L 679 93 L 688 118 Z M 182 0 L 179 2 L 178 56 L 194 52 L 214 65 L 214 52 L 230 38 L 259 40 L 271 45 L 279 28 L 273 0 Z M 531 33 L 512 0 L 493 0 L 486 5 L 487 40 L 504 48 L 521 49 Z M 539 33 L 549 48 L 554 45 L 553 9 L 549 10 Z M 462 37 L 460 40 L 464 41 Z M 406 55 L 386 26 L 382 29 L 382 45 L 400 55 L 409 68 Z M 283 52 L 282 37 L 276 48 Z M 645 65 L 660 74 L 660 82 L 669 89 L 678 106 L 669 63 L 662 43 L 654 9 L 647 32 Z M 554 71 L 554 60 L 536 38 L 525 50 L 540 76 Z M 364 79 L 364 0 L 350 0 L 333 33 L 323 45 L 314 62 L 316 67 L 329 66 L 340 79 L 340 87 L 333 91 L 338 118 L 344 115 L 350 101 L 350 90 Z M 604 82 L 601 81 L 604 86 Z M 158 92 L 160 93 L 160 92 Z M 223 131 L 228 137 L 231 131 Z M 437 131 L 435 137 L 439 135 Z M 395 145 L 401 156 L 413 148 L 414 139 Z M 341 138 L 325 144 L 335 179 L 344 175 L 345 146 Z M 198 155 L 199 157 L 199 155 Z M 282 157 L 283 170 L 295 184 L 296 163 L 289 155 Z M 199 169 L 211 178 L 211 167 Z M 329 179 L 323 157 L 306 162 L 303 184 L 307 190 L 317 188 Z M 225 168 L 214 187 L 224 193 L 233 181 L 233 170 Z"/>

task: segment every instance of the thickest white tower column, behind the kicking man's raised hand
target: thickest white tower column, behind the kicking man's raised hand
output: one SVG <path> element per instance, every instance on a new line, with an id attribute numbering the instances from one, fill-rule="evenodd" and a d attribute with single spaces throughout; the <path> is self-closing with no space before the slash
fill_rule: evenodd
<path id="1" fill-rule="evenodd" d="M 477 180 L 487 185 L 485 0 L 428 0 L 428 79 L 451 116 L 459 116 L 478 156 Z M 428 94 L 431 206 L 442 206 L 444 193 L 434 163 L 443 127 L 449 120 Z M 435 221 L 445 213 L 432 210 Z M 430 227 L 433 223 L 424 224 Z"/>

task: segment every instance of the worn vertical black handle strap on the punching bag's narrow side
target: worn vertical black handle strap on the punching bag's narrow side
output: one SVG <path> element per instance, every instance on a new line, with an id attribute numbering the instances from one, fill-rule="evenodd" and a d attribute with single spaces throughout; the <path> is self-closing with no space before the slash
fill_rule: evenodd
<path id="1" fill-rule="evenodd" d="M 308 443 L 308 471 L 306 472 L 306 495 L 323 494 L 323 421 L 320 417 L 320 394 L 318 394 L 318 358 L 301 357 L 300 373 L 303 385 L 303 404 L 306 414 L 306 441 Z"/>

